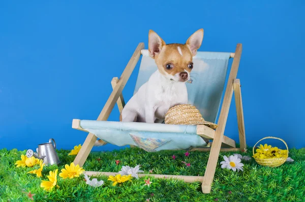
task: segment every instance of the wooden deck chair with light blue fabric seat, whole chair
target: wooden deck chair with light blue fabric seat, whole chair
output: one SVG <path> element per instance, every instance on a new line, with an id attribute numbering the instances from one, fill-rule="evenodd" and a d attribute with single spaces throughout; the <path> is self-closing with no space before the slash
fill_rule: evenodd
<path id="1" fill-rule="evenodd" d="M 139 174 L 139 177 L 148 175 L 156 178 L 169 177 L 183 179 L 185 182 L 200 181 L 202 183 L 202 192 L 210 193 L 220 151 L 246 149 L 240 82 L 239 79 L 236 79 L 241 50 L 242 45 L 237 44 L 235 53 L 198 52 L 193 60 L 194 69 L 191 72 L 193 83 L 187 84 L 189 104 L 196 106 L 205 120 L 215 123 L 225 87 L 228 61 L 230 58 L 234 58 L 218 118 L 218 128 L 216 130 L 205 125 L 188 126 L 107 121 L 115 103 L 117 103 L 119 111 L 124 108 L 125 102 L 122 91 L 141 55 L 140 70 L 134 93 L 148 80 L 151 73 L 157 70 L 155 61 L 148 56 L 148 50 L 144 49 L 144 44 L 140 43 L 120 78 L 114 77 L 112 79 L 111 85 L 113 91 L 97 120 L 73 119 L 73 129 L 89 132 L 79 153 L 74 159 L 74 164 L 83 166 L 97 138 L 103 140 L 104 144 L 138 146 L 148 152 L 167 149 L 210 150 L 204 176 Z M 233 90 L 237 111 L 239 148 L 236 148 L 234 140 L 224 136 Z M 203 138 L 212 141 L 210 147 Z M 109 176 L 116 175 L 117 173 L 86 171 L 86 174 L 103 174 Z"/>

